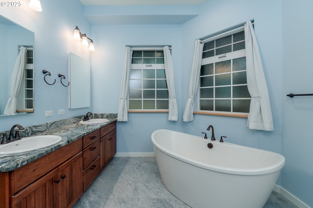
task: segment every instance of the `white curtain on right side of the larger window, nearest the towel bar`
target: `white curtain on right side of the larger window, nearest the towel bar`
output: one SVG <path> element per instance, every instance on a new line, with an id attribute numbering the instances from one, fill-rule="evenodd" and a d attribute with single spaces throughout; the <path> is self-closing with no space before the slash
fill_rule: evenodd
<path id="1" fill-rule="evenodd" d="M 268 87 L 264 76 L 257 39 L 251 21 L 245 23 L 246 79 L 251 96 L 247 127 L 249 129 L 273 131 Z"/>

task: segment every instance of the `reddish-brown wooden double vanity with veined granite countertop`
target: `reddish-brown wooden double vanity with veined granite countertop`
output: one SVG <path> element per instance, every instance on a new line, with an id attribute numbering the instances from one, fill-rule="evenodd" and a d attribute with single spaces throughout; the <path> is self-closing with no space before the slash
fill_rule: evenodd
<path id="1" fill-rule="evenodd" d="M 72 207 L 116 153 L 116 114 L 95 116 L 108 121 L 84 124 L 74 117 L 20 132 L 22 137 L 45 134 L 62 140 L 38 150 L 0 155 L 0 207 Z"/>

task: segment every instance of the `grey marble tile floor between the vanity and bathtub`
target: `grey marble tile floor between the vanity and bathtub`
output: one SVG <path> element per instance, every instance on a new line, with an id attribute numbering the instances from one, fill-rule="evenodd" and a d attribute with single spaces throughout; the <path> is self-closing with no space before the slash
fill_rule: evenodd
<path id="1" fill-rule="evenodd" d="M 155 157 L 113 157 L 73 208 L 190 208 L 163 185 Z M 297 208 L 275 191 L 264 208 Z"/>

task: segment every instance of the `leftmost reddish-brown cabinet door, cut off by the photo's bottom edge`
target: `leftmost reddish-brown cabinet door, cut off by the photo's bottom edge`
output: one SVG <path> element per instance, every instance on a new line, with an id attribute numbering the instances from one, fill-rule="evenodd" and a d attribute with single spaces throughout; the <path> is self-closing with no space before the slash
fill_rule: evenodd
<path id="1" fill-rule="evenodd" d="M 11 196 L 11 208 L 56 208 L 58 207 L 58 169 Z"/>

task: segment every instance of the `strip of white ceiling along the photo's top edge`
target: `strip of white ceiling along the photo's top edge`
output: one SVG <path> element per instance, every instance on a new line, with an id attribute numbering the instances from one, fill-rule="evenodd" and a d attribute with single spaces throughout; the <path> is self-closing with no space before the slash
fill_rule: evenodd
<path id="1" fill-rule="evenodd" d="M 106 5 L 198 5 L 207 0 L 80 0 L 84 6 Z"/>

